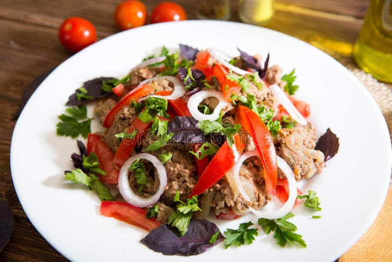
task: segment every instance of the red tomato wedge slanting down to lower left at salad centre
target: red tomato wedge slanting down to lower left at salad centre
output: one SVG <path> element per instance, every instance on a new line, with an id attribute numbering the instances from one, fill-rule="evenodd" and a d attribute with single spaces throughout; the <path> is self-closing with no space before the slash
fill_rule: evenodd
<path id="1" fill-rule="evenodd" d="M 189 198 L 203 193 L 205 190 L 217 183 L 227 173 L 227 171 L 233 167 L 245 147 L 245 144 L 238 133 L 234 135 L 234 140 L 235 143 L 231 148 L 227 144 L 227 141 L 224 142 L 197 181 L 195 188 L 189 195 Z"/>

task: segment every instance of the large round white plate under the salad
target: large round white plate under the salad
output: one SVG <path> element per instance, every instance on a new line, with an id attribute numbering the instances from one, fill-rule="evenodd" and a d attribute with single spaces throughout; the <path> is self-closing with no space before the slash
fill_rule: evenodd
<path id="1" fill-rule="evenodd" d="M 340 150 L 322 174 L 302 185 L 317 191 L 321 219 L 303 205 L 291 219 L 307 248 L 279 247 L 272 234 L 251 245 L 198 256 L 163 256 L 141 244 L 146 232 L 99 215 L 97 195 L 84 185 L 65 181 L 72 169 L 69 156 L 76 141 L 56 136 L 57 116 L 74 89 L 99 76 L 123 77 L 143 57 L 162 45 L 178 43 L 197 48 L 219 47 L 237 54 L 236 47 L 254 54 L 270 50 L 270 65 L 289 73 L 294 67 L 300 88 L 297 97 L 311 105 L 318 135 L 328 127 L 340 137 Z M 92 107 L 89 107 L 92 116 Z M 93 131 L 98 125 L 92 127 Z M 318 49 L 290 36 L 238 23 L 187 21 L 143 26 L 110 36 L 58 66 L 32 95 L 15 126 L 11 171 L 19 200 L 31 223 L 54 248 L 72 261 L 333 261 L 352 246 L 370 226 L 384 201 L 391 174 L 391 140 L 387 125 L 365 87 L 341 64 Z M 242 220 L 220 221 L 222 230 L 237 228 Z M 208 259 L 208 260 L 205 260 Z"/>

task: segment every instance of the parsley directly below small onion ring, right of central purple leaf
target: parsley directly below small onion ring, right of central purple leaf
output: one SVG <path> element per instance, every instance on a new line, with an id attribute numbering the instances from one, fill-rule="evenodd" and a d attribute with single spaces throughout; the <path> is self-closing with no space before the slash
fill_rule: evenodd
<path id="1" fill-rule="evenodd" d="M 211 122 L 210 120 L 199 121 L 197 126 L 205 134 L 215 133 L 224 135 L 229 147 L 235 143 L 234 135 L 241 129 L 240 124 L 235 124 L 233 127 L 223 127 L 221 123 L 217 121 Z"/>

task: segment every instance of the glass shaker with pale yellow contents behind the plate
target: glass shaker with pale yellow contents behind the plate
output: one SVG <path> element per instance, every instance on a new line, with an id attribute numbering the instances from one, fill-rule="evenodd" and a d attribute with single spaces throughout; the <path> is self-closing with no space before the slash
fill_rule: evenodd
<path id="1" fill-rule="evenodd" d="M 240 0 L 238 16 L 247 24 L 263 26 L 275 14 L 275 0 Z"/>

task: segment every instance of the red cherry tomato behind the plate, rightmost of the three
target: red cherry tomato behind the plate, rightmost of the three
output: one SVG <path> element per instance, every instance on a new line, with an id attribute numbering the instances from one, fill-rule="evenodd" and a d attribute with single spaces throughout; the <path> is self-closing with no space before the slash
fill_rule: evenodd
<path id="1" fill-rule="evenodd" d="M 187 20 L 187 14 L 178 3 L 161 2 L 151 13 L 151 24 L 180 20 Z"/>

